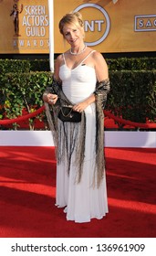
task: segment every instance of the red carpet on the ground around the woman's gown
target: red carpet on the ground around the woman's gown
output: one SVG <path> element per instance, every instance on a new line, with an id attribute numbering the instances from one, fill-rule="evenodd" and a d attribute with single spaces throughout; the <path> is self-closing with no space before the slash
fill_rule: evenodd
<path id="1" fill-rule="evenodd" d="M 52 147 L 0 147 L 1 238 L 155 238 L 156 149 L 106 148 L 109 214 L 76 224 L 55 207 Z"/>

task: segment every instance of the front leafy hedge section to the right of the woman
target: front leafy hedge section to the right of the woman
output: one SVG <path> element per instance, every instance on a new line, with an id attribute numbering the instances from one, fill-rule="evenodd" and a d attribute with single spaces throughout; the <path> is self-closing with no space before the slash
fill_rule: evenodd
<path id="1" fill-rule="evenodd" d="M 156 70 L 120 70 L 109 73 L 107 108 L 132 122 L 156 122 Z"/>

